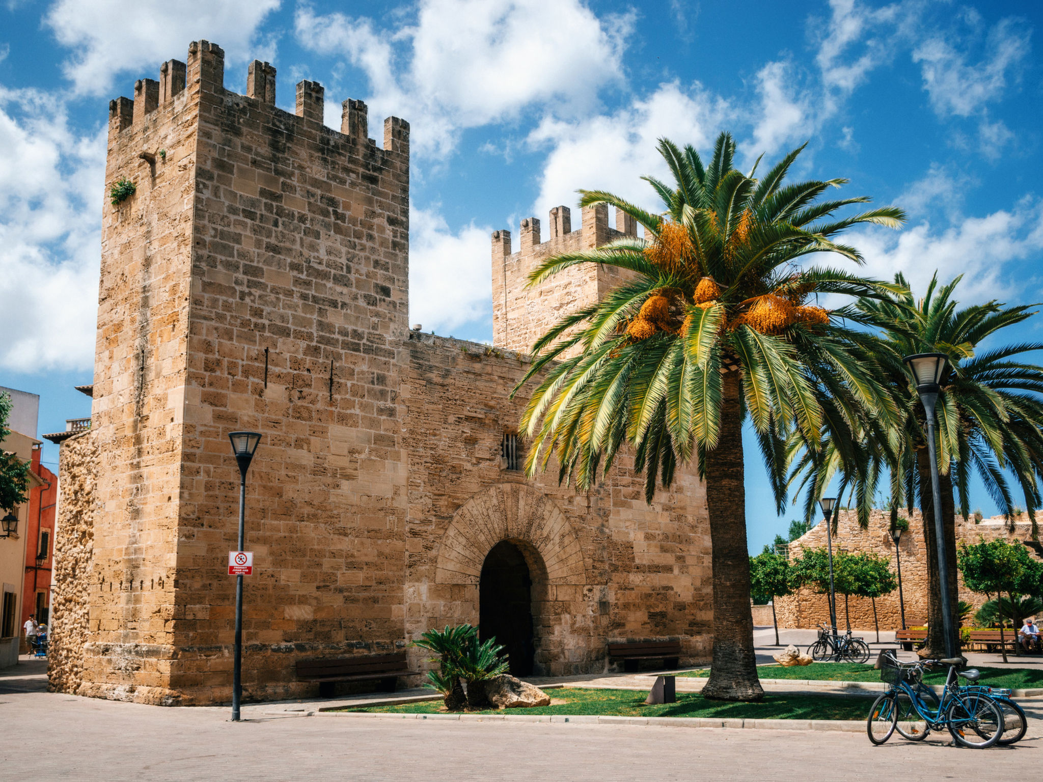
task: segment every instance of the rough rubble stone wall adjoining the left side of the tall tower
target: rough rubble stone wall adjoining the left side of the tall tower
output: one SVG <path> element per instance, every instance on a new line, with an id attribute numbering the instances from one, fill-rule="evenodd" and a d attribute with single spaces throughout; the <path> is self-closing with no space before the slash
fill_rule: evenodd
<path id="1" fill-rule="evenodd" d="M 62 444 L 62 484 L 54 537 L 54 591 L 47 651 L 48 689 L 77 692 L 82 683 L 93 580 L 98 448 L 92 433 Z"/>

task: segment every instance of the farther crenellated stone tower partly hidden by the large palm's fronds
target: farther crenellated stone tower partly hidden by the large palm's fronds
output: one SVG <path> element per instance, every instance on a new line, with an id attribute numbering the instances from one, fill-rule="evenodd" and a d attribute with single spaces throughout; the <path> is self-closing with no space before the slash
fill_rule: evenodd
<path id="1" fill-rule="evenodd" d="M 511 233 L 492 231 L 492 343 L 529 352 L 533 343 L 562 317 L 600 300 L 625 282 L 626 274 L 608 266 L 577 266 L 528 288 L 529 272 L 552 255 L 580 252 L 624 236 L 637 236 L 637 224 L 620 210 L 616 228 L 608 225 L 608 205 L 583 207 L 583 222 L 573 230 L 567 206 L 551 210 L 550 237 L 540 242 L 539 220 L 522 221 L 522 242 L 511 252 Z M 566 353 L 566 356 L 572 353 Z"/>

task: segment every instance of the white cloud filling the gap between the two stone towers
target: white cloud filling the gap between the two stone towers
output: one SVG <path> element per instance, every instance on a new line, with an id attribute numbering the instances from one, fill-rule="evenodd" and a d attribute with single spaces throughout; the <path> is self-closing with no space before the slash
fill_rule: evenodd
<path id="1" fill-rule="evenodd" d="M 450 230 L 436 207 L 409 216 L 409 320 L 452 334 L 487 321 L 492 312 L 491 228 Z"/>

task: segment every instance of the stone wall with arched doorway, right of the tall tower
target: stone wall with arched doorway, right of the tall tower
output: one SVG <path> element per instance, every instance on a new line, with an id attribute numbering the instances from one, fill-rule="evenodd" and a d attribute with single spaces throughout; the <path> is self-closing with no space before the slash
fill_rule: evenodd
<path id="1" fill-rule="evenodd" d="M 679 639 L 686 663 L 704 662 L 712 642 L 710 544 L 694 469 L 678 470 L 673 489 L 651 506 L 625 455 L 588 494 L 559 486 L 553 463 L 527 480 L 505 469 L 501 442 L 525 407 L 526 391 L 514 399 L 510 392 L 529 358 L 410 336 L 408 637 L 477 624 L 482 562 L 509 539 L 533 575 L 537 673 L 604 670 L 609 640 Z"/>

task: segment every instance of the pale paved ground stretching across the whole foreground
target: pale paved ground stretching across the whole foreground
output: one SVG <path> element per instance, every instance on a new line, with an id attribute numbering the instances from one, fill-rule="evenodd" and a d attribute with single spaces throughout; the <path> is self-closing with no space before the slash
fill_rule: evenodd
<path id="1" fill-rule="evenodd" d="M 935 736 L 877 748 L 856 733 L 278 717 L 262 706 L 234 724 L 226 708 L 48 694 L 39 679 L 21 669 L 0 675 L 2 779 L 990 780 L 1043 760 L 1043 704 L 1035 702 L 1026 702 L 1037 718 L 1020 744 L 974 751 Z"/>

